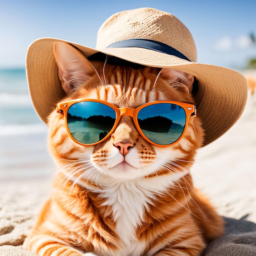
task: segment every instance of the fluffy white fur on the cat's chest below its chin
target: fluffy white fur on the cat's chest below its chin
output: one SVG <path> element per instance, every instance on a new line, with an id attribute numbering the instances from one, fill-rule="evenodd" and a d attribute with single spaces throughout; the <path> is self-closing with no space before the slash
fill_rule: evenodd
<path id="1" fill-rule="evenodd" d="M 162 175 L 137 180 L 113 182 L 105 185 L 103 190 L 97 191 L 106 198 L 104 205 L 112 207 L 112 214 L 116 223 L 116 233 L 123 244 L 119 255 L 139 255 L 146 247 L 145 243 L 138 241 L 136 228 L 144 218 L 144 211 L 152 204 L 155 195 L 166 191 L 185 175 L 186 172 L 174 175 Z M 96 192 L 96 191 L 95 191 Z"/>

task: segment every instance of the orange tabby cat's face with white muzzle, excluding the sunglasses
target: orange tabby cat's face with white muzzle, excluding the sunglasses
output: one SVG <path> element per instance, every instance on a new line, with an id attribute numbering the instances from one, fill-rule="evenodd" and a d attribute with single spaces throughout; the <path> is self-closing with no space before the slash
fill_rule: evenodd
<path id="1" fill-rule="evenodd" d="M 74 81 L 78 77 L 78 82 L 65 84 L 67 72 L 69 72 L 66 70 L 70 68 L 69 65 L 67 68 L 63 68 L 64 64 L 60 62 L 67 60 L 68 57 L 60 60 L 61 57 L 58 58 L 57 51 L 55 49 L 60 78 L 63 88 L 68 94 L 65 101 L 80 98 L 101 99 L 118 108 L 137 108 L 155 100 L 193 103 L 189 92 L 193 78 L 188 76 L 182 80 L 180 75 L 173 70 L 162 70 L 157 77 L 159 69 L 156 68 L 145 67 L 135 70 L 131 67 L 94 62 L 93 65 L 97 73 L 87 65 L 89 71 L 86 72 L 86 78 L 81 78 L 83 74 L 85 75 L 84 70 L 81 74 L 78 74 L 76 70 L 70 80 Z M 74 63 L 70 63 L 70 66 L 72 65 Z M 69 76 L 71 75 L 69 74 Z M 175 80 L 183 81 L 187 85 L 180 86 L 181 84 L 175 83 Z M 71 167 L 70 177 L 74 175 L 76 179 L 85 178 L 98 183 L 103 177 L 105 180 L 107 178 L 129 180 L 171 173 L 172 171 L 173 175 L 177 176 L 178 173 L 184 171 L 177 165 L 184 166 L 183 163 L 186 163 L 187 166 L 188 162 L 182 162 L 182 160 L 193 160 L 196 149 L 202 144 L 203 137 L 198 117 L 190 118 L 186 134 L 177 144 L 166 147 L 155 146 L 145 141 L 135 128 L 132 118 L 128 116 L 121 117 L 117 128 L 106 141 L 94 146 L 84 146 L 74 142 L 67 134 L 63 115 L 56 111 L 50 115 L 48 125 L 49 148 L 54 159 L 65 159 L 58 162 L 62 167 L 63 165 Z M 125 150 L 122 151 L 121 147 Z M 65 167 L 64 170 L 67 168 Z"/>

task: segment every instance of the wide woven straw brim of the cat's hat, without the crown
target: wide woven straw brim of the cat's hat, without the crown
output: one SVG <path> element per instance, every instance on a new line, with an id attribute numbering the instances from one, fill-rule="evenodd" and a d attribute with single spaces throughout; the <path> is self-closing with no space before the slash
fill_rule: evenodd
<path id="1" fill-rule="evenodd" d="M 70 41 L 40 38 L 29 46 L 26 71 L 34 108 L 46 124 L 47 117 L 56 107 L 56 103 L 65 97 L 52 51 L 52 43 L 55 41 L 74 45 L 87 58 L 102 52 L 133 63 L 174 68 L 195 76 L 198 80 L 198 92 L 195 94 L 197 115 L 205 130 L 203 146 L 229 130 L 245 108 L 247 81 L 242 74 L 229 68 L 190 62 L 138 47 L 93 49 Z"/>

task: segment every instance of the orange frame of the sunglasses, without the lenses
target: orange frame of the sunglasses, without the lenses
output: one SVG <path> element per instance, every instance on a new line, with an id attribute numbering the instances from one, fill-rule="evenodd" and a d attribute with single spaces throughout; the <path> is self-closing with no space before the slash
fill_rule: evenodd
<path id="1" fill-rule="evenodd" d="M 110 108 L 112 108 L 113 110 L 115 110 L 116 113 L 116 120 L 115 120 L 115 124 L 113 126 L 113 128 L 110 130 L 110 132 L 108 133 L 108 135 L 106 135 L 106 137 L 104 137 L 103 139 L 92 143 L 92 144 L 85 144 L 85 143 L 81 143 L 79 141 L 77 141 L 71 134 L 68 124 L 67 124 L 67 112 L 69 110 L 69 108 L 75 104 L 75 103 L 79 103 L 79 102 L 84 102 L 84 101 L 90 101 L 90 102 L 97 102 L 97 103 L 103 103 L 107 106 L 109 106 Z M 138 113 L 142 108 L 145 108 L 147 106 L 150 105 L 154 105 L 154 104 L 158 104 L 158 103 L 170 103 L 170 104 L 175 104 L 178 105 L 180 107 L 182 107 L 185 111 L 186 114 L 186 123 L 184 126 L 184 130 L 182 132 L 182 134 L 180 135 L 179 139 L 177 139 L 176 141 L 174 141 L 171 144 L 167 144 L 167 145 L 161 145 L 161 144 L 157 144 L 153 141 L 151 141 L 150 139 L 148 139 L 144 133 L 142 132 L 141 128 L 139 127 L 139 123 L 138 123 Z M 141 106 L 137 107 L 137 108 L 117 108 L 115 105 L 109 103 L 108 101 L 103 101 L 100 99 L 74 99 L 71 101 L 65 101 L 65 102 L 61 102 L 57 104 L 56 110 L 58 113 L 61 113 L 64 116 L 64 121 L 65 121 L 65 127 L 67 130 L 68 135 L 71 137 L 71 139 L 73 139 L 73 141 L 75 141 L 76 143 L 83 145 L 83 146 L 93 146 L 93 145 L 97 145 L 103 141 L 105 141 L 106 139 L 108 139 L 112 133 L 115 131 L 115 129 L 117 128 L 119 121 L 121 119 L 121 117 L 123 116 L 129 116 L 132 117 L 133 123 L 137 129 L 137 131 L 139 132 L 139 135 L 141 135 L 141 137 L 143 139 L 145 139 L 146 141 L 148 141 L 150 144 L 153 144 L 155 146 L 160 146 L 160 147 L 166 147 L 166 146 L 171 146 L 174 145 L 176 143 L 178 143 L 182 137 L 184 136 L 186 129 L 188 127 L 189 124 L 189 118 L 190 116 L 196 116 L 196 106 L 193 103 L 187 103 L 187 102 L 182 102 L 182 101 L 169 101 L 169 100 L 163 100 L 163 101 L 151 101 L 145 104 L 142 104 Z"/>

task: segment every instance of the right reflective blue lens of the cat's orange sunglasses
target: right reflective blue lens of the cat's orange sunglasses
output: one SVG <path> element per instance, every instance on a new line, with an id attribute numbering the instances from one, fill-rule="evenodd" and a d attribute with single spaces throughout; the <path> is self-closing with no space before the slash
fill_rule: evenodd
<path id="1" fill-rule="evenodd" d="M 150 141 L 168 145 L 177 141 L 184 132 L 186 112 L 176 104 L 156 103 L 139 111 L 138 123 Z"/>

